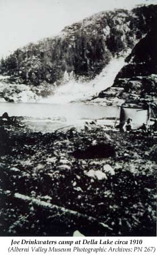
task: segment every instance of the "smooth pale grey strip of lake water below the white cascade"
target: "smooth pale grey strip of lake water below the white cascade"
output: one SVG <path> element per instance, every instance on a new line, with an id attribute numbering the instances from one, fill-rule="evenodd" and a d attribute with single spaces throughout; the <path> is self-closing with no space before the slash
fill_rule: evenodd
<path id="1" fill-rule="evenodd" d="M 116 106 L 99 106 L 86 104 L 40 104 L 40 103 L 0 103 L 0 115 L 7 112 L 10 116 L 27 116 L 33 118 L 99 119 L 115 117 Z"/>

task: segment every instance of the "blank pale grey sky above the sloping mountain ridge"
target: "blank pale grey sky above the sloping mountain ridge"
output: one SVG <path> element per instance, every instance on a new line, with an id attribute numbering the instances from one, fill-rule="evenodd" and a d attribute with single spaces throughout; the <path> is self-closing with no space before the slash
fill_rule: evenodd
<path id="1" fill-rule="evenodd" d="M 157 0 L 0 0 L 0 58 L 94 13 Z"/>

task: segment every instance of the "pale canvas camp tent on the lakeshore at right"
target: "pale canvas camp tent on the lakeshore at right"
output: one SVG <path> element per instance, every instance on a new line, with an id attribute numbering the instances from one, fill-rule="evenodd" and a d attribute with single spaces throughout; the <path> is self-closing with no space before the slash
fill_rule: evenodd
<path id="1" fill-rule="evenodd" d="M 133 129 L 135 130 L 139 129 L 143 123 L 148 123 L 150 119 L 149 106 L 121 106 L 120 108 L 120 130 L 122 130 L 122 127 L 128 118 L 132 119 Z"/>

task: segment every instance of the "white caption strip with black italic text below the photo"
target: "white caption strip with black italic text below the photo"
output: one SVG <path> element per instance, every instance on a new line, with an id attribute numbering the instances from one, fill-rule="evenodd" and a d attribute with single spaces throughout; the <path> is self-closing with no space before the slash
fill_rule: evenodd
<path id="1" fill-rule="evenodd" d="M 49 240 L 49 241 L 57 241 L 57 244 L 59 241 L 77 241 L 77 240 L 81 240 L 81 243 L 82 243 L 82 240 L 88 240 L 88 241 L 91 241 L 91 240 L 95 240 L 95 241 L 98 241 L 97 242 L 97 245 L 75 245 L 73 243 L 73 245 L 71 245 L 71 252 L 70 253 L 66 253 L 66 252 L 56 252 L 56 253 L 53 253 L 53 252 L 46 252 L 46 253 L 32 253 L 31 250 L 29 253 L 9 253 L 8 252 L 8 248 L 9 246 L 11 246 L 11 240 L 16 240 L 16 241 L 22 241 L 22 239 L 25 239 L 25 240 L 28 240 L 31 239 L 31 240 L 40 240 L 40 241 L 45 241 L 45 240 Z M 100 239 L 102 241 L 105 241 L 105 240 L 110 240 L 110 241 L 113 241 L 113 245 L 99 245 L 99 241 Z M 130 245 L 130 240 L 142 240 L 142 245 Z M 114 245 L 114 242 L 115 241 L 128 241 L 128 245 Z M 16 245 L 15 245 L 16 246 Z M 31 246 L 34 247 L 66 247 L 66 245 L 29 245 L 30 249 L 31 249 Z M 109 247 L 114 247 L 114 248 L 117 248 L 118 246 L 119 247 L 126 247 L 126 248 L 129 248 L 131 247 L 133 249 L 133 252 L 128 252 L 128 253 L 125 253 L 125 252 L 115 252 L 115 253 L 111 253 L 111 252 L 100 252 L 100 253 L 77 253 L 77 252 L 73 252 L 73 247 L 74 246 L 79 246 L 79 247 L 88 247 L 88 248 L 95 248 L 95 247 L 107 247 L 109 249 Z M 1 237 L 1 255 L 3 256 L 6 256 L 6 255 L 75 255 L 75 256 L 78 256 L 78 255 L 99 255 L 99 256 L 103 256 L 103 255 L 116 255 L 116 256 L 119 256 L 119 255 L 131 255 L 131 256 L 138 256 L 138 255 L 147 255 L 147 256 L 150 256 L 150 255 L 156 255 L 156 251 L 155 253 L 152 253 L 152 252 L 145 252 L 144 249 L 145 247 L 149 247 L 149 246 L 156 246 L 156 237 Z M 18 245 L 18 247 L 28 247 L 28 245 Z M 69 247 L 69 246 L 67 246 Z M 143 250 L 142 252 L 141 251 L 134 251 L 134 247 L 143 247 Z"/>

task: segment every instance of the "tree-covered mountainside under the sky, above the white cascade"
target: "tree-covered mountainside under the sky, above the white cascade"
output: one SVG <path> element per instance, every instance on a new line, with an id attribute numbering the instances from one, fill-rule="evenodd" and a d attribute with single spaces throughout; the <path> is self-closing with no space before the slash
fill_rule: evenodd
<path id="1" fill-rule="evenodd" d="M 132 11 L 102 11 L 65 27 L 58 36 L 17 49 L 1 61 L 1 73 L 10 75 L 10 82 L 37 86 L 45 81 L 58 85 L 65 72 L 76 78 L 83 76 L 92 79 L 113 57 L 122 56 L 129 48 L 133 49 L 143 36 L 154 29 L 155 24 L 157 6 L 154 5 Z M 127 59 L 131 67 L 134 65 L 132 62 L 137 61 L 134 59 L 135 51 L 138 49 L 134 48 Z M 117 79 L 128 74 L 126 69 L 130 72 L 130 67 L 124 67 Z M 131 70 L 134 74 L 134 68 Z"/>

